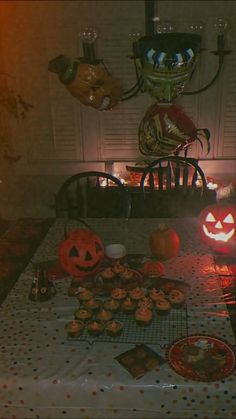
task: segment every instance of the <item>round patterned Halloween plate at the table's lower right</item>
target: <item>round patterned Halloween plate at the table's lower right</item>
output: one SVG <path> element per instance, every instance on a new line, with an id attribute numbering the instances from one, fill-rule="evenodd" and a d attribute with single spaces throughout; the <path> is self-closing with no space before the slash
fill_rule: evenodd
<path id="1" fill-rule="evenodd" d="M 167 350 L 171 368 L 195 381 L 217 381 L 228 377 L 235 367 L 233 349 L 213 336 L 192 335 L 175 341 Z"/>

